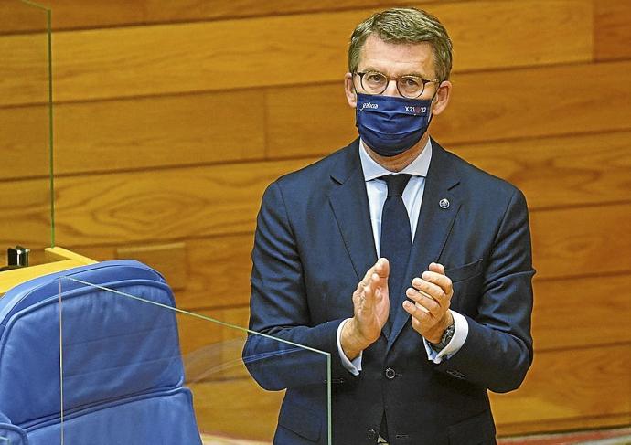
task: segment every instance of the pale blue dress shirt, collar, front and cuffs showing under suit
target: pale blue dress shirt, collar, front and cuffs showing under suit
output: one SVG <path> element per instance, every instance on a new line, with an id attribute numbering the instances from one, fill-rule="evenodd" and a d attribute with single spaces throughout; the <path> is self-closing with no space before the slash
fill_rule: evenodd
<path id="1" fill-rule="evenodd" d="M 383 204 L 388 197 L 388 185 L 385 181 L 379 178 L 385 175 L 392 175 L 393 172 L 385 169 L 380 164 L 377 164 L 366 151 L 364 143 L 359 141 L 359 159 L 361 161 L 361 168 L 364 172 L 364 179 L 366 180 L 366 192 L 369 199 L 369 212 L 370 212 L 370 224 L 372 226 L 372 235 L 375 240 L 375 247 L 377 249 L 377 257 L 380 256 L 380 235 L 381 235 L 381 212 L 383 210 Z M 421 213 L 422 195 L 425 189 L 425 177 L 430 167 L 430 161 L 432 160 L 432 142 L 427 140 L 427 144 L 423 148 L 421 154 L 412 161 L 410 165 L 405 167 L 400 174 L 412 175 L 410 182 L 403 191 L 403 204 L 408 211 L 408 217 L 410 217 L 410 228 L 412 232 L 412 242 L 416 235 L 417 224 L 419 215 Z M 431 229 L 431 228 L 429 228 Z M 419 274 L 422 270 L 419 270 Z M 392 311 L 393 308 L 390 308 Z M 450 310 L 451 311 L 451 310 Z M 429 360 L 434 363 L 441 363 L 444 358 L 449 358 L 460 350 L 463 344 L 465 344 L 466 337 L 469 333 L 469 325 L 466 322 L 465 317 L 451 311 L 454 316 L 455 332 L 451 342 L 447 344 L 440 353 L 436 353 L 430 344 L 423 338 L 425 344 L 425 351 Z M 339 325 L 337 329 L 337 352 L 342 359 L 343 365 L 348 371 L 354 375 L 358 375 L 361 371 L 361 354 L 355 358 L 352 362 L 348 360 L 348 357 L 344 355 L 341 346 L 341 333 L 342 327 L 347 322 L 345 320 Z"/>

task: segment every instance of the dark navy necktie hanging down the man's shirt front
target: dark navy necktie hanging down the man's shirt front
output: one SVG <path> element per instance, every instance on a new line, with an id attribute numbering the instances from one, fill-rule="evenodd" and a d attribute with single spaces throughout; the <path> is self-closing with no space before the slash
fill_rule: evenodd
<path id="1" fill-rule="evenodd" d="M 412 249 L 412 231 L 410 217 L 403 204 L 403 190 L 412 175 L 388 175 L 383 180 L 388 185 L 388 197 L 383 204 L 381 213 L 381 249 L 380 256 L 390 261 L 390 277 L 388 291 L 390 294 L 389 323 L 401 309 L 399 306 L 404 299 L 404 275 L 410 259 Z"/>

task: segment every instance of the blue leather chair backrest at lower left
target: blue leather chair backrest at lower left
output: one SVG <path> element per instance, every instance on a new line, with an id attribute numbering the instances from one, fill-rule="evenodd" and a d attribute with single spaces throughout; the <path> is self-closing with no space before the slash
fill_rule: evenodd
<path id="1" fill-rule="evenodd" d="M 3 425 L 26 432 L 28 442 L 22 435 L 11 445 L 59 443 L 62 394 L 66 444 L 201 443 L 174 306 L 162 275 L 133 260 L 8 291 L 0 299 L 0 445 Z"/>

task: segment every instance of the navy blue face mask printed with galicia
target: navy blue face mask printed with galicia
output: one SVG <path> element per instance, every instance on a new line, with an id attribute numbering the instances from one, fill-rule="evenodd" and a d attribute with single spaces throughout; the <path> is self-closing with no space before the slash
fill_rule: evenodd
<path id="1" fill-rule="evenodd" d="M 381 156 L 410 150 L 430 125 L 432 101 L 358 93 L 356 126 L 361 140 Z"/>

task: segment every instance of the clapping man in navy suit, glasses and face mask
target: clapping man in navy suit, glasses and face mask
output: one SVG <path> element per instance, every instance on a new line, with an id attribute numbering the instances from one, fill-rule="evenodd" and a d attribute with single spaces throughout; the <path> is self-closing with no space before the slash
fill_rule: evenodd
<path id="1" fill-rule="evenodd" d="M 524 196 L 427 133 L 451 48 L 420 10 L 359 24 L 345 76 L 359 139 L 262 198 L 251 329 L 331 354 L 335 445 L 495 443 L 487 389 L 516 389 L 532 362 Z M 251 336 L 244 357 L 268 357 L 252 375 L 287 388 L 274 443 L 326 443 L 322 381 L 271 348 Z"/>

